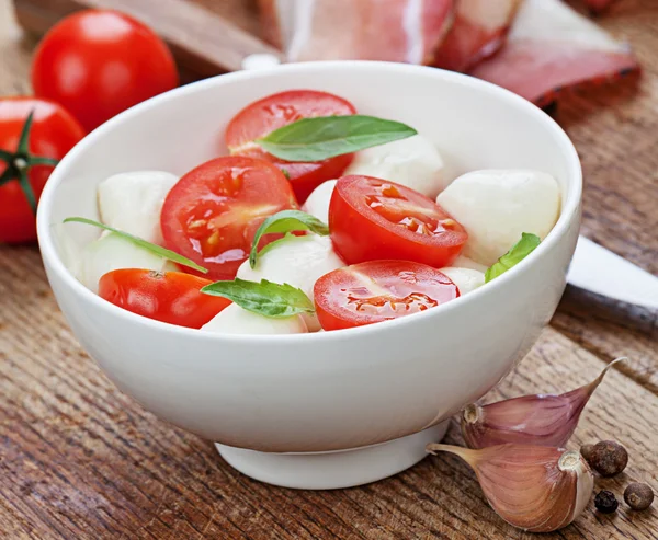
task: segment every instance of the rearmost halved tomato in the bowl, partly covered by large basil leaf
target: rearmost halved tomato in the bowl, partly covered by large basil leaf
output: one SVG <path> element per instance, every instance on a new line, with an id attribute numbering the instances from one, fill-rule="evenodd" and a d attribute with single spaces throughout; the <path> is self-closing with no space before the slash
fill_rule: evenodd
<path id="1" fill-rule="evenodd" d="M 265 152 L 256 139 L 300 118 L 350 115 L 356 113 L 347 100 L 316 90 L 291 90 L 259 100 L 240 111 L 226 128 L 226 146 L 231 154 L 251 156 L 271 161 L 285 170 L 299 204 L 318 185 L 339 177 L 353 154 L 338 156 L 314 163 L 293 163 Z"/>

